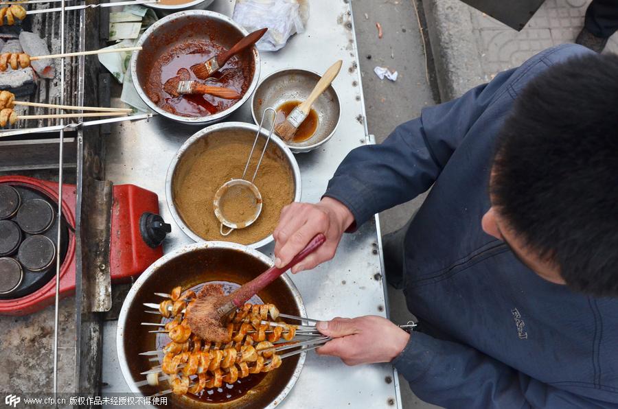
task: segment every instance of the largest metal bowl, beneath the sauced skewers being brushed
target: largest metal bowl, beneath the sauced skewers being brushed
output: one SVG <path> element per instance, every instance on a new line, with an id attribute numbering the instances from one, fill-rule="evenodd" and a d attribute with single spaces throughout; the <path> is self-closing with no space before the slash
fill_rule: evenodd
<path id="1" fill-rule="evenodd" d="M 144 312 L 142 305 L 161 301 L 153 294 L 154 292 L 169 293 L 176 285 L 181 285 L 184 290 L 194 285 L 218 280 L 243 284 L 270 266 L 272 266 L 271 259 L 258 250 L 227 242 L 190 244 L 155 261 L 131 287 L 118 318 L 116 332 L 118 362 L 130 390 L 145 396 L 157 392 L 152 386 L 140 387 L 136 384 L 145 379 L 140 373 L 155 365 L 148 360 L 150 357 L 139 355 L 141 352 L 155 349 L 156 334 L 148 332 L 152 327 L 140 325 L 142 322 L 154 323 L 161 320 L 159 316 Z M 287 274 L 273 281 L 258 296 L 264 303 L 277 305 L 281 312 L 306 316 L 301 295 Z M 282 366 L 268 373 L 258 386 L 249 390 L 247 395 L 225 404 L 209 404 L 190 397 L 176 397 L 170 394 L 167 395 L 170 406 L 165 408 L 274 408 L 293 388 L 305 358 L 306 353 L 286 358 Z"/>

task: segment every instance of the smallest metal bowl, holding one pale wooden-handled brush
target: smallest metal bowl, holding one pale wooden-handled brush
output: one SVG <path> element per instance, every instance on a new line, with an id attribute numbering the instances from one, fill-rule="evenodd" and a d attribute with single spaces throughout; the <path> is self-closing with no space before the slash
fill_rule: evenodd
<path id="1" fill-rule="evenodd" d="M 306 69 L 282 69 L 275 71 L 258 85 L 251 97 L 251 114 L 255 124 L 260 124 L 264 109 L 279 108 L 286 101 L 304 101 L 321 75 Z M 312 137 L 306 141 L 295 143 L 287 142 L 294 153 L 309 152 L 323 145 L 332 137 L 341 117 L 339 95 L 331 85 L 313 103 L 312 108 L 317 112 L 319 124 Z M 264 127 L 270 129 L 273 121 L 268 115 L 264 119 Z"/>

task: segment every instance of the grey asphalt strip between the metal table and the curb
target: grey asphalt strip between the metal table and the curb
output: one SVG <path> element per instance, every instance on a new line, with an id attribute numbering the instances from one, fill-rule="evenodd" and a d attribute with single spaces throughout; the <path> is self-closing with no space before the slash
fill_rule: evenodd
<path id="1" fill-rule="evenodd" d="M 352 2 L 367 127 L 378 143 L 396 126 L 419 116 L 422 108 L 437 102 L 434 99 L 437 89 L 430 84 L 435 70 L 431 55 L 428 71 L 425 67 L 425 50 L 415 6 L 422 13 L 422 7 L 411 0 Z M 382 25 L 382 38 L 378 38 L 376 23 Z M 397 81 L 380 80 L 374 73 L 376 66 L 398 71 Z M 382 234 L 403 226 L 421 202 L 422 198 L 417 198 L 380 213 Z M 411 318 L 402 292 L 390 287 L 389 309 L 395 323 L 407 323 Z M 404 408 L 435 408 L 415 397 L 403 377 L 400 377 L 400 387 Z"/>

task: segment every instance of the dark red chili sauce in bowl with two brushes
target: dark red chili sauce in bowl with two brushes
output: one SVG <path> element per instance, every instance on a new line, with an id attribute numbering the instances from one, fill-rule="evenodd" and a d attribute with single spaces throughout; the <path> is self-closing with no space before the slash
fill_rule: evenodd
<path id="1" fill-rule="evenodd" d="M 238 100 L 224 100 L 209 94 L 174 97 L 163 89 L 165 82 L 176 77 L 180 69 L 186 69 L 190 73 L 188 80 L 210 86 L 224 86 L 244 95 L 251 84 L 253 73 L 251 67 L 245 67 L 238 56 L 230 58 L 208 80 L 199 80 L 191 70 L 192 66 L 203 64 L 223 51 L 224 47 L 207 38 L 185 41 L 170 47 L 154 62 L 144 87 L 146 95 L 160 108 L 182 117 L 206 117 L 226 110 Z"/>

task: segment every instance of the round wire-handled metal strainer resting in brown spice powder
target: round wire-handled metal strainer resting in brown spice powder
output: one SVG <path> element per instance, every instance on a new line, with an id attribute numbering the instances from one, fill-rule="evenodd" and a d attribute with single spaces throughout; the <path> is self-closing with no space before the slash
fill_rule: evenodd
<path id="1" fill-rule="evenodd" d="M 251 163 L 251 157 L 253 156 L 255 146 L 258 145 L 260 132 L 262 132 L 262 124 L 264 124 L 264 118 L 266 118 L 266 112 L 268 112 L 268 110 L 273 111 L 273 125 L 271 126 L 270 132 L 268 132 L 266 142 L 264 142 L 264 148 L 262 149 L 262 154 L 260 155 L 258 165 L 255 165 L 255 172 L 253 172 L 251 180 L 247 180 L 245 179 L 245 176 L 247 175 L 247 170 L 249 170 L 249 163 Z M 262 121 L 260 121 L 258 133 L 255 134 L 253 147 L 251 147 L 251 152 L 249 152 L 247 164 L 244 165 L 242 176 L 239 179 L 231 179 L 224 183 L 215 193 L 213 208 L 216 218 L 219 222 L 221 222 L 219 233 L 223 236 L 229 235 L 229 233 L 236 229 L 244 229 L 245 227 L 250 226 L 253 222 L 255 222 L 255 220 L 258 220 L 258 217 L 260 217 L 260 213 L 262 212 L 262 195 L 260 194 L 258 187 L 253 184 L 253 180 L 255 180 L 255 176 L 258 175 L 258 170 L 262 164 L 262 159 L 264 158 L 264 153 L 268 147 L 268 142 L 271 140 L 271 136 L 273 135 L 276 115 L 277 111 L 274 108 L 266 108 L 264 110 Z M 225 233 L 223 231 L 223 226 L 229 228 L 229 230 Z"/>

